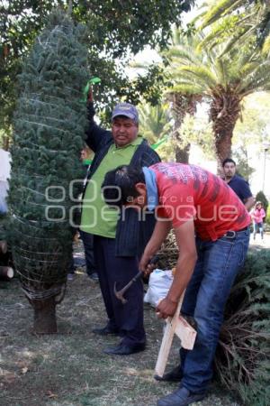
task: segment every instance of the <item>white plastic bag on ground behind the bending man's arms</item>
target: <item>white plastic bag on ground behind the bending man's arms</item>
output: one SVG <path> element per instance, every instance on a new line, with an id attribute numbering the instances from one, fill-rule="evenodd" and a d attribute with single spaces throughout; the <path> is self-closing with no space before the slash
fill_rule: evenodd
<path id="1" fill-rule="evenodd" d="M 162 271 L 155 269 L 149 277 L 148 291 L 144 296 L 144 301 L 156 307 L 159 300 L 166 297 L 173 281 L 172 271 Z"/>

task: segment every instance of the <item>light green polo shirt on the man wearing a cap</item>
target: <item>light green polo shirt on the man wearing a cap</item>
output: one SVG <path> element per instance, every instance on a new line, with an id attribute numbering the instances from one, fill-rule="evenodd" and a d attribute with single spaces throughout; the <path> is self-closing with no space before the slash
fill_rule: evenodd
<path id="1" fill-rule="evenodd" d="M 130 164 L 132 156 L 141 142 L 142 137 L 138 136 L 132 143 L 121 148 L 116 147 L 113 143 L 94 172 L 87 184 L 83 200 L 80 229 L 85 233 L 115 238 L 119 212 L 105 204 L 101 187 L 108 171 L 112 171 L 120 165 Z"/>

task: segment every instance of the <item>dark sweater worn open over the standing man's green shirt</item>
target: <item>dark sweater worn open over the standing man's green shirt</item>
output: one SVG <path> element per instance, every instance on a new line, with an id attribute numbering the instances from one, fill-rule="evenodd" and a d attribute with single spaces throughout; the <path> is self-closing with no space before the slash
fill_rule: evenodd
<path id="1" fill-rule="evenodd" d="M 86 143 L 94 151 L 94 160 L 87 177 L 87 180 L 90 180 L 112 145 L 113 139 L 111 131 L 104 130 L 94 123 L 93 104 L 88 105 L 88 119 L 89 126 L 86 131 Z M 148 146 L 146 140 L 143 140 L 134 152 L 130 165 L 141 168 L 153 165 L 159 161 L 160 158 L 157 152 Z M 115 255 L 140 256 L 152 235 L 155 223 L 154 214 L 148 213 L 145 221 L 139 221 L 137 211 L 132 208 L 126 210 L 124 221 L 120 218 L 117 223 Z"/>

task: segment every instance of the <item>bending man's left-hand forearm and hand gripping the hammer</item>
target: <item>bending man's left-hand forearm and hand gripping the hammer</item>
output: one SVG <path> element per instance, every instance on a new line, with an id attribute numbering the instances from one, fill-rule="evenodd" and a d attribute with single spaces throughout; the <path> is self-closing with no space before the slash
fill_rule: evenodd
<path id="1" fill-rule="evenodd" d="M 170 221 L 157 220 L 153 234 L 148 241 L 148 245 L 145 247 L 144 253 L 139 261 L 139 270 L 141 272 L 147 272 L 147 266 L 152 257 L 157 254 L 160 245 L 165 241 L 166 235 L 168 235 L 171 229 Z"/>

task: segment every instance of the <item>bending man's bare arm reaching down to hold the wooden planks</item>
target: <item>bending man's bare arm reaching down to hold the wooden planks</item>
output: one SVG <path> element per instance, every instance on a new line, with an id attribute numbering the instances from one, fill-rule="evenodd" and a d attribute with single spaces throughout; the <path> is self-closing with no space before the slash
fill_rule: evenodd
<path id="1" fill-rule="evenodd" d="M 176 272 L 166 298 L 157 305 L 156 311 L 159 318 L 174 316 L 178 301 L 192 277 L 197 261 L 193 220 L 189 220 L 176 228 L 175 237 L 179 248 Z"/>

